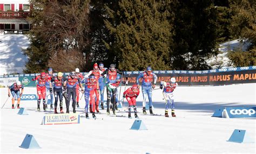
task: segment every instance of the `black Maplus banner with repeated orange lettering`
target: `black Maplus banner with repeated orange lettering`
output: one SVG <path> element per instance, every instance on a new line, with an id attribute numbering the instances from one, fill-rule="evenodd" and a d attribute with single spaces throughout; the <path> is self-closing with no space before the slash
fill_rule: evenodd
<path id="1" fill-rule="evenodd" d="M 170 82 L 171 78 L 174 77 L 178 85 L 181 86 L 219 86 L 219 85 L 232 85 L 237 83 L 256 83 L 256 71 L 255 70 L 245 70 L 245 71 L 230 71 L 230 72 L 208 72 L 202 74 L 181 74 L 181 71 L 172 72 L 170 74 L 156 74 L 157 84 L 160 85 L 161 81 Z M 127 76 L 128 85 L 131 86 L 136 83 L 137 74 L 125 74 L 123 75 L 123 80 Z M 139 79 L 139 84 L 141 85 L 142 78 Z"/>

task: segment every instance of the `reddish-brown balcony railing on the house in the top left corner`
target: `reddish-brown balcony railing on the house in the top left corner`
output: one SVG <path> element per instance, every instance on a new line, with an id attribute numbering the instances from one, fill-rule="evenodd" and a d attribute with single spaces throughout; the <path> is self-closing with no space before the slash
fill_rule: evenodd
<path id="1" fill-rule="evenodd" d="M 28 17 L 30 12 L 18 11 L 18 12 L 4 12 L 0 11 L 0 19 L 21 19 Z"/>

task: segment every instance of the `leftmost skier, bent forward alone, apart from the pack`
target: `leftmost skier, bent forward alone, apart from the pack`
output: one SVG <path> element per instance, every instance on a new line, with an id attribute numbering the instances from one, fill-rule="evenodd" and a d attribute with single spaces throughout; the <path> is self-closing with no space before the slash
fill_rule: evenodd
<path id="1" fill-rule="evenodd" d="M 22 88 L 22 92 L 19 92 L 19 89 Z M 11 99 L 11 108 L 14 109 L 14 102 L 15 102 L 15 98 L 17 97 L 17 101 L 18 101 L 18 105 L 17 108 L 19 109 L 19 103 L 21 102 L 21 96 L 23 94 L 23 90 L 24 87 L 21 84 L 21 81 L 17 81 L 14 84 L 12 84 L 11 86 L 8 87 L 8 96 L 10 97 L 12 95 L 12 99 Z"/>

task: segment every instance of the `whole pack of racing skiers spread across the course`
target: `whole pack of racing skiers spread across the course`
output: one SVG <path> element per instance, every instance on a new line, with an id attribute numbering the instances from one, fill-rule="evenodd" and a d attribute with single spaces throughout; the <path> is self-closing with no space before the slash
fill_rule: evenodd
<path id="1" fill-rule="evenodd" d="M 95 113 L 99 113 L 99 102 L 100 107 L 104 109 L 104 87 L 106 87 L 107 93 L 107 115 L 110 115 L 110 109 L 112 107 L 113 114 L 116 115 L 117 100 L 118 100 L 118 86 L 122 83 L 127 85 L 126 81 L 122 81 L 123 72 L 116 69 L 114 64 L 111 64 L 109 68 L 105 68 L 103 63 L 99 65 L 96 63 L 93 65 L 93 69 L 86 75 L 82 75 L 79 72 L 79 68 L 75 69 L 75 72 L 71 72 L 65 78 L 62 72 L 58 72 L 57 76 L 53 76 L 52 68 L 48 69 L 48 73 L 42 72 L 40 75 L 35 76 L 32 81 L 37 83 L 37 110 L 40 111 L 41 100 L 43 99 L 43 109 L 46 110 L 47 103 L 45 101 L 46 96 L 50 95 L 50 108 L 53 109 L 53 95 L 55 97 L 54 113 L 57 114 L 57 104 L 59 99 L 60 113 L 63 111 L 63 96 L 66 102 L 66 113 L 69 113 L 69 106 L 72 96 L 72 109 L 73 113 L 76 113 L 76 107 L 79 108 L 79 92 L 82 92 L 85 99 L 85 116 L 89 118 L 88 107 L 92 117 L 96 118 Z M 149 99 L 149 110 L 150 114 L 152 111 L 152 89 L 156 87 L 157 75 L 152 72 L 152 68 L 148 66 L 143 73 L 137 76 L 136 84 L 125 90 L 123 98 L 129 103 L 129 114 L 131 118 L 131 110 L 133 108 L 134 116 L 138 118 L 136 99 L 139 95 L 139 79 L 142 78 L 142 93 L 143 93 L 143 114 L 146 113 L 146 96 Z M 84 84 L 84 87 L 83 87 Z M 176 79 L 171 78 L 170 82 L 160 82 L 160 89 L 163 89 L 165 105 L 165 117 L 169 117 L 168 109 L 169 106 L 172 109 L 172 116 L 174 114 L 174 97 L 173 90 L 178 86 Z M 19 89 L 22 88 L 22 92 L 19 93 Z M 15 97 L 19 102 L 23 94 L 24 87 L 21 82 L 18 81 L 8 88 L 8 96 L 12 94 L 12 108 L 14 107 Z M 110 105 L 112 103 L 112 106 Z"/>

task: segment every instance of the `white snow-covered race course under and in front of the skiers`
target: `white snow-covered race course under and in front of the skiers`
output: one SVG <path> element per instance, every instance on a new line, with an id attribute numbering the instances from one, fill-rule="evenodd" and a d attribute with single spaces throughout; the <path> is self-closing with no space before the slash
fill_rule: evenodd
<path id="1" fill-rule="evenodd" d="M 148 130 L 130 130 L 135 118 L 127 113 L 98 119 L 81 118 L 80 124 L 41 125 L 49 112 L 37 112 L 36 101 L 23 101 L 29 115 L 17 115 L 11 101 L 1 111 L 1 153 L 255 153 L 255 143 L 227 142 L 234 129 L 246 130 L 255 140 L 255 119 L 211 117 L 220 107 L 255 106 L 255 83 L 230 86 L 178 87 L 175 90 L 177 117 L 164 117 L 161 90 L 153 90 L 154 113 L 142 114 L 142 94 L 137 101 L 139 118 Z M 124 88 L 122 88 L 122 91 Z M 0 88 L 1 107 L 7 89 Z M 25 88 L 24 94 L 36 94 Z M 84 107 L 84 99 L 80 102 Z M 126 109 L 127 102 L 124 103 Z M 64 103 L 65 107 L 65 103 Z M 41 104 L 42 108 L 42 104 Z M 82 113 L 83 109 L 77 109 Z M 19 148 L 26 134 L 35 137 L 41 149 Z"/>

